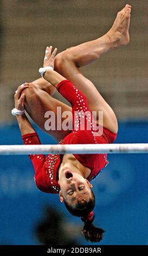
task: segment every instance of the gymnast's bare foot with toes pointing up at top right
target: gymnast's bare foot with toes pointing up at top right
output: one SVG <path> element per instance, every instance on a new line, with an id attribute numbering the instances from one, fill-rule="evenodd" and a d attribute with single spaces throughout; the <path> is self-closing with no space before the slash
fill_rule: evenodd
<path id="1" fill-rule="evenodd" d="M 127 45 L 128 42 L 130 42 L 128 29 L 130 27 L 131 8 L 131 5 L 126 4 L 125 7 L 119 11 L 112 28 L 106 34 L 113 42 L 113 47 Z"/>

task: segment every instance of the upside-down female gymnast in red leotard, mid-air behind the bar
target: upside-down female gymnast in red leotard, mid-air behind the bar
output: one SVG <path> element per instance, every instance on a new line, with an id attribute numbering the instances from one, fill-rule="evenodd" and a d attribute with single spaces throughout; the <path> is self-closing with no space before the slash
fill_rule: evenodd
<path id="1" fill-rule="evenodd" d="M 25 83 L 18 87 L 15 93 L 15 109 L 24 144 L 41 144 L 37 133 L 29 123 L 24 108 L 43 130 L 52 135 L 59 144 L 95 144 L 113 143 L 117 137 L 118 123 L 112 108 L 102 98 L 94 84 L 85 78 L 79 68 L 92 63 L 101 54 L 112 48 L 128 44 L 131 5 L 119 11 L 112 28 L 101 38 L 68 48 L 55 57 L 56 48 L 46 48 L 42 78 Z M 49 69 L 46 69 L 50 66 Z M 52 67 L 52 68 L 51 68 Z M 54 68 L 54 70 L 53 70 Z M 52 95 L 55 90 L 67 99 L 71 107 L 56 100 Z M 44 127 L 47 111 L 57 115 L 57 107 L 61 112 L 71 113 L 72 130 L 61 129 L 47 131 Z M 81 114 L 91 111 L 90 115 Z M 96 116 L 94 121 L 92 111 L 103 111 L 103 124 Z M 77 115 L 75 115 L 75 112 Z M 75 123 L 74 123 L 75 115 Z M 85 130 L 80 128 L 85 120 Z M 66 120 L 62 117 L 61 121 Z M 86 121 L 91 123 L 91 130 L 86 127 Z M 57 125 L 57 123 L 56 123 Z M 98 131 L 96 125 L 103 125 L 101 136 L 94 136 Z M 59 193 L 60 201 L 65 203 L 70 214 L 81 217 L 85 223 L 83 234 L 87 240 L 98 242 L 102 239 L 104 230 L 92 224 L 95 196 L 92 191 L 92 181 L 107 164 L 106 154 L 49 154 L 29 155 L 35 169 L 35 181 L 39 190 L 46 193 Z"/>

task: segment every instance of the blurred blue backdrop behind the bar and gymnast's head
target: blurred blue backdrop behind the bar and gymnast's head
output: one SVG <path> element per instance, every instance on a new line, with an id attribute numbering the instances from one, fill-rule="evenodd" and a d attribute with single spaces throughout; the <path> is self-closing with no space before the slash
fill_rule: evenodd
<path id="1" fill-rule="evenodd" d="M 146 121 L 119 124 L 115 143 L 144 143 Z M 36 130 L 44 144 L 56 143 L 52 137 Z M 1 144 L 22 144 L 17 125 L 0 129 Z M 108 155 L 110 164 L 102 170 L 94 184 L 96 196 L 95 224 L 106 230 L 100 245 L 148 244 L 148 170 L 147 154 Z M 1 156 L 0 169 L 0 243 L 39 245 L 34 229 L 41 221 L 43 208 L 53 205 L 70 223 L 81 230 L 82 222 L 70 216 L 59 196 L 38 191 L 34 169 L 28 156 Z M 78 243 L 91 245 L 80 235 Z"/>

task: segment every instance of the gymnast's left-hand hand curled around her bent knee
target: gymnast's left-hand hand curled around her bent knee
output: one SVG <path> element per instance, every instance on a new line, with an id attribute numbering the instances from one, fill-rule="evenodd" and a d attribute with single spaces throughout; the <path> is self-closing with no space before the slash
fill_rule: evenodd
<path id="1" fill-rule="evenodd" d="M 15 92 L 14 98 L 15 98 L 15 108 L 18 110 L 23 111 L 24 110 L 24 99 L 25 99 L 25 93 L 22 93 L 24 89 L 28 88 L 29 84 L 24 83 L 21 86 L 19 86 Z M 22 94 L 21 94 L 22 93 Z"/>

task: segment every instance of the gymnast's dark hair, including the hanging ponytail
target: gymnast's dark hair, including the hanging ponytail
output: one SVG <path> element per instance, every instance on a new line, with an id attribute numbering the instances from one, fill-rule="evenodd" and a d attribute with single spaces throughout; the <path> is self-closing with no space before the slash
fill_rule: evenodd
<path id="1" fill-rule="evenodd" d="M 87 240 L 91 242 L 99 242 L 103 238 L 104 229 L 96 228 L 92 222 L 94 221 L 94 216 L 92 220 L 88 220 L 88 214 L 94 209 L 95 206 L 95 196 L 91 190 L 92 198 L 89 199 L 88 203 L 86 200 L 78 200 L 78 203 L 73 208 L 66 201 L 64 201 L 67 210 L 70 214 L 74 216 L 81 217 L 81 220 L 85 223 L 82 233 L 84 234 Z"/>

